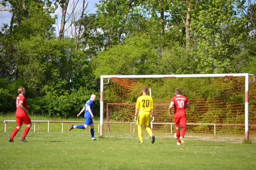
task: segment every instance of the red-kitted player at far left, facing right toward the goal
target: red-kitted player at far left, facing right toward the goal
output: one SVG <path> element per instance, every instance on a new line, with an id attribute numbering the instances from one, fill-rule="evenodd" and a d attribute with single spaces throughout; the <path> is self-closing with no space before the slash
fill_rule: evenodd
<path id="1" fill-rule="evenodd" d="M 28 116 L 29 111 L 27 110 L 27 109 L 29 109 L 29 106 L 26 105 L 26 99 L 24 97 L 26 95 L 25 88 L 24 87 L 18 88 L 18 94 L 19 94 L 19 96 L 17 96 L 17 98 L 16 98 L 16 108 L 17 108 L 16 124 L 17 124 L 17 127 L 13 130 L 12 136 L 8 139 L 9 142 L 14 142 L 13 138 L 15 137 L 17 132 L 20 130 L 23 123 L 27 124 L 27 126 L 26 126 L 23 136 L 20 138 L 20 140 L 23 142 L 27 142 L 25 137 L 29 133 L 29 129 L 32 125 L 31 120 Z"/>

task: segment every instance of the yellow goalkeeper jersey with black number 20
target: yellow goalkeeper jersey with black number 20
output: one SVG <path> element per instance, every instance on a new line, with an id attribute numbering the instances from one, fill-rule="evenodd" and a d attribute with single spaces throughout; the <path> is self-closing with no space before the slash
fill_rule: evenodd
<path id="1" fill-rule="evenodd" d="M 136 102 L 136 108 L 139 109 L 139 114 L 150 114 L 154 109 L 153 98 L 148 95 L 140 96 Z"/>

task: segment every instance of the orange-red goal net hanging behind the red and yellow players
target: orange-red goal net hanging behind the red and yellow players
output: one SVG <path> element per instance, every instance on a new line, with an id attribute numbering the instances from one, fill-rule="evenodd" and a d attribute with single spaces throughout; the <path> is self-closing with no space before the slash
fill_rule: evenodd
<path id="1" fill-rule="evenodd" d="M 248 76 L 248 90 L 244 74 L 216 77 L 176 76 L 111 76 L 105 79 L 101 97 L 102 133 L 110 137 L 137 137 L 135 105 L 137 98 L 142 95 L 142 88 L 148 87 L 148 95 L 154 100 L 155 120 L 151 122 L 151 130 L 157 138 L 172 138 L 175 133 L 173 116 L 168 113 L 171 98 L 175 96 L 175 88 L 180 88 L 182 95 L 189 100 L 190 108 L 186 109 L 186 136 L 191 139 L 208 136 L 205 139 L 211 140 L 212 137 L 223 135 L 244 137 L 247 131 L 250 131 L 251 136 L 256 136 L 256 84 L 249 83 L 253 82 L 254 76 Z M 143 134 L 147 134 L 146 131 Z M 245 135 L 248 138 L 248 134 Z M 202 140 L 202 137 L 199 139 Z"/>

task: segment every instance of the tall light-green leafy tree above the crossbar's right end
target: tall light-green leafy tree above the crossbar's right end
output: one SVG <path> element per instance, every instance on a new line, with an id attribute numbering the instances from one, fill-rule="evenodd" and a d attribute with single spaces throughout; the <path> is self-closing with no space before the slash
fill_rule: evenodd
<path id="1" fill-rule="evenodd" d="M 240 17 L 236 17 L 240 15 Z M 209 1 L 191 21 L 192 57 L 199 73 L 240 72 L 247 56 L 239 57 L 247 40 L 247 19 L 232 0 Z M 245 40 L 245 41 L 244 41 Z"/>

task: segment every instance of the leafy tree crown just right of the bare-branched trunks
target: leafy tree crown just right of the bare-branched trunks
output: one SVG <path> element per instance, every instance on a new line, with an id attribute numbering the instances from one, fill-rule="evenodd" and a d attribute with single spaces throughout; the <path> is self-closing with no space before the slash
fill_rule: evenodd
<path id="1" fill-rule="evenodd" d="M 99 48 L 101 51 L 106 47 L 112 47 L 119 44 L 127 36 L 126 23 L 131 18 L 133 7 L 136 6 L 137 0 L 100 0 L 96 14 L 90 14 L 85 17 L 83 22 L 84 35 L 90 39 L 99 37 Z M 95 41 L 94 41 L 95 42 Z M 93 47 L 85 39 L 85 46 Z M 104 45 L 102 46 L 102 43 Z M 96 45 L 98 46 L 98 45 Z M 94 51 L 94 50 L 93 50 Z"/>

